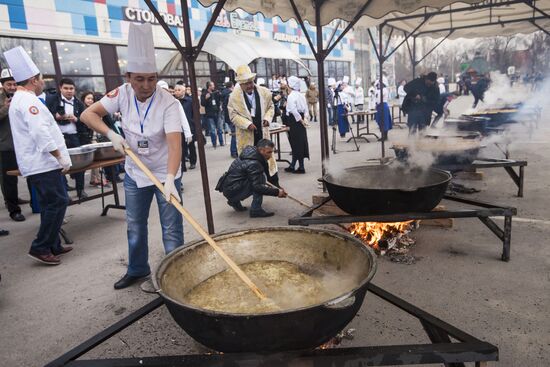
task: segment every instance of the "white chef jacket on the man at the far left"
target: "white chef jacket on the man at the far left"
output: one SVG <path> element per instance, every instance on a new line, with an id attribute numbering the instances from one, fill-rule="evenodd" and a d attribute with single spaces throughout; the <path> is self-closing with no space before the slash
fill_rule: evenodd
<path id="1" fill-rule="evenodd" d="M 69 158 L 65 139 L 48 108 L 32 92 L 17 91 L 9 109 L 17 166 L 24 177 L 61 169 L 50 152 Z"/>

